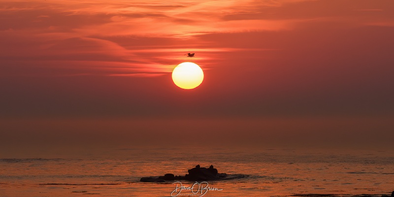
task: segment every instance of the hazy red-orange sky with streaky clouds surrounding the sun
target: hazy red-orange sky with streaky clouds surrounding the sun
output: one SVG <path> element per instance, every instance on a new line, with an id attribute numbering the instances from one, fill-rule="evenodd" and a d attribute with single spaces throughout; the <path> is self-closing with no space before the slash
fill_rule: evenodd
<path id="1" fill-rule="evenodd" d="M 0 156 L 208 142 L 394 150 L 393 10 L 393 0 L 1 0 Z M 172 82 L 182 62 L 203 69 L 196 89 Z"/>

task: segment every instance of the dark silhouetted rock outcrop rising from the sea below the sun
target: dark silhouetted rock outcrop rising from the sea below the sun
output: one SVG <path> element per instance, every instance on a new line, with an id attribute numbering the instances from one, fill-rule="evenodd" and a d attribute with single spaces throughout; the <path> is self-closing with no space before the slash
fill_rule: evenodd
<path id="1" fill-rule="evenodd" d="M 244 174 L 226 174 L 218 173 L 218 170 L 213 167 L 213 165 L 206 167 L 196 167 L 188 170 L 189 174 L 185 176 L 174 176 L 174 174 L 164 174 L 164 176 L 159 177 L 142 177 L 141 182 L 165 182 L 174 180 L 186 180 L 186 181 L 220 181 L 220 180 L 230 180 L 244 178 L 247 175 Z"/>

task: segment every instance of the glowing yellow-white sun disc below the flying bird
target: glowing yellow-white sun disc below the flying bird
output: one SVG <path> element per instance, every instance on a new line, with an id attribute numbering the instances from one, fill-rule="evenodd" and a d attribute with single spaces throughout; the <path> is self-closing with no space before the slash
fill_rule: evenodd
<path id="1" fill-rule="evenodd" d="M 204 72 L 200 66 L 192 62 L 179 64 L 172 71 L 172 81 L 183 89 L 194 89 L 202 83 Z"/>

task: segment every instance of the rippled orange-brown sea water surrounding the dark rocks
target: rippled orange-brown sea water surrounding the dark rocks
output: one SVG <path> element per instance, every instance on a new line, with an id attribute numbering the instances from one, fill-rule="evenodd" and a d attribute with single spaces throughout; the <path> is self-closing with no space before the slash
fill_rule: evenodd
<path id="1" fill-rule="evenodd" d="M 250 175 L 208 182 L 221 191 L 207 191 L 205 197 L 382 195 L 394 190 L 393 152 L 160 148 L 117 149 L 106 156 L 71 159 L 0 159 L 0 197 L 168 197 L 176 184 L 139 179 L 184 175 L 197 164 Z"/>

